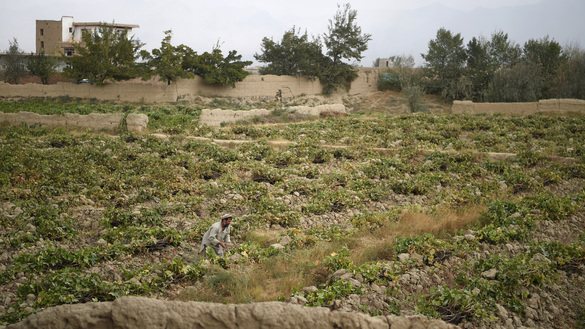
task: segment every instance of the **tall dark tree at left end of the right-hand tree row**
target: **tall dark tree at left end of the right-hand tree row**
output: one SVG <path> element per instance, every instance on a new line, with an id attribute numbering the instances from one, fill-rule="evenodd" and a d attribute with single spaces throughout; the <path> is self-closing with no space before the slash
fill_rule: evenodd
<path id="1" fill-rule="evenodd" d="M 468 80 L 462 79 L 467 54 L 460 33 L 453 34 L 445 28 L 437 31 L 434 40 L 429 41 L 429 50 L 421 54 L 429 78 L 428 90 L 440 93 L 445 99 L 466 98 Z"/>

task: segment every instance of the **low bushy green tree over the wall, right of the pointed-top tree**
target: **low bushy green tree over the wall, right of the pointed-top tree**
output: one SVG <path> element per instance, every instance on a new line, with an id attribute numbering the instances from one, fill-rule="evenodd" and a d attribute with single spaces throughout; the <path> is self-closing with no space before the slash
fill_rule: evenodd
<path id="1" fill-rule="evenodd" d="M 231 50 L 224 57 L 218 44 L 211 53 L 197 55 L 193 51 L 185 52 L 182 67 L 202 77 L 205 83 L 235 87 L 236 82 L 248 76 L 244 68 L 250 64 L 251 61 L 242 61 L 242 55 L 238 55 L 235 50 Z"/>

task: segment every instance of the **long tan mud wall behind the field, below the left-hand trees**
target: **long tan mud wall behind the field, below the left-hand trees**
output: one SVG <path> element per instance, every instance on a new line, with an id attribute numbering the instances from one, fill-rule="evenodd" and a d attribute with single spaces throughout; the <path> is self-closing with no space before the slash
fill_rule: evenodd
<path id="1" fill-rule="evenodd" d="M 376 91 L 377 88 L 378 70 L 362 68 L 347 93 L 361 94 Z M 322 87 L 319 80 L 276 75 L 249 75 L 244 81 L 236 83 L 235 88 L 208 85 L 200 77 L 178 79 L 170 85 L 144 83 L 113 83 L 105 86 L 74 83 L 11 85 L 0 82 L 0 97 L 5 98 L 69 96 L 143 103 L 189 101 L 197 96 L 275 97 L 279 91 L 282 97 L 319 95 Z"/>

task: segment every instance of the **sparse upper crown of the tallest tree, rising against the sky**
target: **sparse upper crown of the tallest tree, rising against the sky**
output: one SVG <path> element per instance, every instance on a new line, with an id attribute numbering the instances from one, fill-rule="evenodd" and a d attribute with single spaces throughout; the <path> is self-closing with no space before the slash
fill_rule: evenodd
<path id="1" fill-rule="evenodd" d="M 334 64 L 342 59 L 360 61 L 362 52 L 368 49 L 371 34 L 362 34 L 362 28 L 356 25 L 357 11 L 346 3 L 342 8 L 337 5 L 337 13 L 333 20 L 329 20 L 329 33 L 323 39 L 327 47 L 327 55 Z"/>

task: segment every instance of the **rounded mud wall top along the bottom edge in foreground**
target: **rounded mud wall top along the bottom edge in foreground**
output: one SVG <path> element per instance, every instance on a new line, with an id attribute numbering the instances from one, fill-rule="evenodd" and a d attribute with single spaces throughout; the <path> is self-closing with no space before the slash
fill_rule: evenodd
<path id="1" fill-rule="evenodd" d="M 141 328 L 345 328 L 455 329 L 424 317 L 371 317 L 280 302 L 224 305 L 122 297 L 113 302 L 61 305 L 33 314 L 7 329 Z"/>

